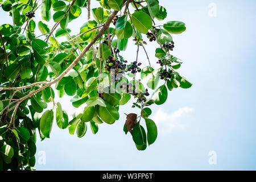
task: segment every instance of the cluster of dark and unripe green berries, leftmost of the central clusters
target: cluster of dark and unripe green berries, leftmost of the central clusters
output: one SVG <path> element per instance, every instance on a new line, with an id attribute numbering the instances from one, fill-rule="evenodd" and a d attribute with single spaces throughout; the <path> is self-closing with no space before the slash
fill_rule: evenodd
<path id="1" fill-rule="evenodd" d="M 125 71 L 126 64 L 123 64 L 122 61 L 117 60 L 117 58 L 109 56 L 106 60 L 105 69 L 110 73 L 110 69 L 115 70 L 115 75 L 118 73 L 123 73 Z"/>

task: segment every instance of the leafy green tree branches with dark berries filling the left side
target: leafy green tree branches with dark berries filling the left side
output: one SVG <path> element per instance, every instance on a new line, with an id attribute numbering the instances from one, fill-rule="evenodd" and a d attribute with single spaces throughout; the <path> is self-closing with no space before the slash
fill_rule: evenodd
<path id="1" fill-rule="evenodd" d="M 83 137 L 87 127 L 96 134 L 101 123 L 119 119 L 119 106 L 131 98 L 131 107 L 141 114 L 127 114 L 123 130 L 131 133 L 138 150 L 145 150 L 157 137 L 148 106 L 166 102 L 168 90 L 191 87 L 175 71 L 181 62 L 171 53 L 171 34 L 185 31 L 183 22 L 156 25 L 154 19 L 167 16 L 158 0 L 101 0 L 98 5 L 91 9 L 90 0 L 0 0 L 2 11 L 13 17 L 0 26 L 0 169 L 34 169 L 36 130 L 41 140 L 49 138 L 56 121 L 77 137 Z M 42 14 L 39 22 L 34 21 L 35 11 Z M 72 35 L 68 23 L 82 11 L 88 22 L 81 23 L 79 35 Z M 42 34 L 35 35 L 37 28 Z M 66 41 L 59 42 L 63 36 Z M 137 54 L 126 60 L 122 51 L 128 40 Z M 148 57 L 144 44 L 155 47 L 156 58 Z M 147 56 L 143 64 L 139 51 Z M 159 67 L 152 68 L 150 60 Z M 72 118 L 54 102 L 55 94 L 73 96 L 77 110 Z M 53 107 L 46 110 L 49 103 Z"/>

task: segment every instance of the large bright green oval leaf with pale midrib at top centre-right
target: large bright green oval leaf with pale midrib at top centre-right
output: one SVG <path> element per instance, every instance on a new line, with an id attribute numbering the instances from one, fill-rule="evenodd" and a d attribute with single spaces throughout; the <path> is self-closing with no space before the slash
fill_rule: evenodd
<path id="1" fill-rule="evenodd" d="M 143 34 L 147 34 L 148 29 L 152 27 L 152 20 L 150 16 L 142 11 L 136 11 L 131 15 L 131 20 L 137 30 Z"/>

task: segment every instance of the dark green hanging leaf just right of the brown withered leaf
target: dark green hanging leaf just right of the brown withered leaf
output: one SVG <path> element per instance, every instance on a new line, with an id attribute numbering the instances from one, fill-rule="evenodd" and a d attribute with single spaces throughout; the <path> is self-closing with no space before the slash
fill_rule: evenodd
<path id="1" fill-rule="evenodd" d="M 134 125 L 132 136 L 134 143 L 138 146 L 143 146 L 146 143 L 146 132 L 144 128 L 139 125 L 139 122 Z"/>

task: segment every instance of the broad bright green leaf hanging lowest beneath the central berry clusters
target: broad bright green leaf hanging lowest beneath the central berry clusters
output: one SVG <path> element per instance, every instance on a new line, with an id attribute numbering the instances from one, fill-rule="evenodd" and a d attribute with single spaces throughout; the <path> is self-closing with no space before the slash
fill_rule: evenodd
<path id="1" fill-rule="evenodd" d="M 106 105 L 106 107 L 99 107 L 98 115 L 105 123 L 112 125 L 115 122 L 115 120 L 119 119 L 119 113 L 117 109 L 115 109 L 115 107 L 109 104 Z"/>

